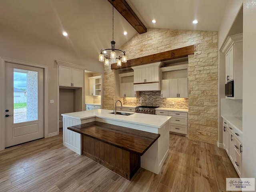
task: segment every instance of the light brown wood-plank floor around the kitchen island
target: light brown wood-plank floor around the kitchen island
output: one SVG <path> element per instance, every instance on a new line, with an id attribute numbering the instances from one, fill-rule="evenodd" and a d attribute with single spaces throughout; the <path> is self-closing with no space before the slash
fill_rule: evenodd
<path id="1" fill-rule="evenodd" d="M 170 134 L 160 174 L 140 168 L 129 182 L 62 146 L 62 134 L 0 152 L 0 192 L 224 192 L 238 178 L 226 152 Z"/>

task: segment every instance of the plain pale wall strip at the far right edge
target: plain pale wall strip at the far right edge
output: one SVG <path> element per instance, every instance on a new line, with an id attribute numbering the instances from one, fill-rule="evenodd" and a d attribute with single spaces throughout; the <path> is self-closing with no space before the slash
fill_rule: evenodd
<path id="1" fill-rule="evenodd" d="M 256 1 L 244 0 L 242 177 L 256 178 Z"/>

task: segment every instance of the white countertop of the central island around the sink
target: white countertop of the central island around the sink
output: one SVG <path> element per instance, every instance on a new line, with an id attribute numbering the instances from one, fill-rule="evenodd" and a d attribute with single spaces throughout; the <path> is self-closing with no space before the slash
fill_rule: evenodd
<path id="1" fill-rule="evenodd" d="M 94 109 L 89 111 L 80 111 L 80 112 L 66 113 L 61 115 L 64 117 L 74 118 L 78 120 L 98 117 L 98 118 L 116 120 L 121 122 L 128 122 L 136 125 L 150 126 L 154 128 L 161 128 L 171 118 L 169 116 L 150 115 L 150 114 L 142 114 L 142 113 L 133 113 L 132 115 L 129 115 L 129 116 L 114 115 L 114 114 L 110 114 L 111 112 L 113 112 L 113 110 Z"/>

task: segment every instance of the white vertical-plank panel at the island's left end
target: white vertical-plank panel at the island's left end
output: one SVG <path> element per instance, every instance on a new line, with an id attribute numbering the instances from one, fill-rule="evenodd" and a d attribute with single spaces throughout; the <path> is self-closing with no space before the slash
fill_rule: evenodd
<path id="1" fill-rule="evenodd" d="M 77 154 L 82 154 L 81 134 L 68 130 L 68 127 L 94 121 L 95 118 L 78 120 L 63 116 L 63 145 Z"/>

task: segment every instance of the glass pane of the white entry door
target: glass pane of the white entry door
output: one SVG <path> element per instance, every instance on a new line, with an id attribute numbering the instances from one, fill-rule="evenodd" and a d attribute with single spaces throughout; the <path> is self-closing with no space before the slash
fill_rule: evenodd
<path id="1" fill-rule="evenodd" d="M 38 72 L 14 69 L 14 123 L 38 120 Z"/>

